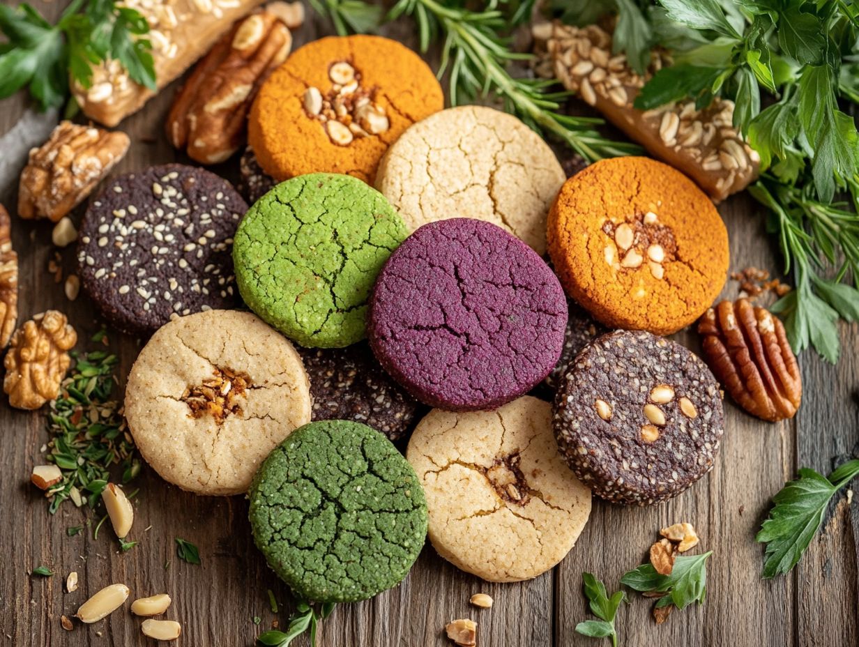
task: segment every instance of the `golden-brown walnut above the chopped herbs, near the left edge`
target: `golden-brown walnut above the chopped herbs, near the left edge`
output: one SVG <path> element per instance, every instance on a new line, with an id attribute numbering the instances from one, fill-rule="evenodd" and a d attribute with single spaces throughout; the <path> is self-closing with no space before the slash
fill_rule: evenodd
<path id="1" fill-rule="evenodd" d="M 36 314 L 16 330 L 3 362 L 9 404 L 32 410 L 56 398 L 71 363 L 67 351 L 76 342 L 75 329 L 57 310 Z"/>

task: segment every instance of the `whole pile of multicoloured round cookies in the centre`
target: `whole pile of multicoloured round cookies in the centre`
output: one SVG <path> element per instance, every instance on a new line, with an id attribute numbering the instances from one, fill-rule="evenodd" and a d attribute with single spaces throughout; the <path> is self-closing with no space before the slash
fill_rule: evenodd
<path id="1" fill-rule="evenodd" d="M 429 68 L 378 37 L 295 52 L 249 139 L 250 207 L 199 168 L 125 175 L 78 260 L 114 327 L 154 333 L 125 400 L 144 458 L 186 490 L 249 491 L 296 592 L 376 595 L 428 533 L 478 577 L 537 577 L 592 491 L 655 504 L 713 466 L 716 380 L 660 336 L 728 266 L 683 175 L 618 158 L 564 182 L 526 125 L 442 110 Z"/>

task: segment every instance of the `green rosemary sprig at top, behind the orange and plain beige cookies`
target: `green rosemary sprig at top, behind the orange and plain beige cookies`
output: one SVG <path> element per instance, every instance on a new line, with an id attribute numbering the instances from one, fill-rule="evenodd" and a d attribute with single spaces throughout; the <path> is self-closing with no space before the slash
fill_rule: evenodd
<path id="1" fill-rule="evenodd" d="M 367 7 L 358 9 L 359 4 Z M 359 0 L 316 0 L 314 9 L 329 15 L 344 31 L 368 31 L 369 4 Z M 417 25 L 420 48 L 442 45 L 442 64 L 438 76 L 449 75 L 450 102 L 475 101 L 497 97 L 509 113 L 516 114 L 534 130 L 559 138 L 576 153 L 595 162 L 604 157 L 630 155 L 641 149 L 632 143 L 615 142 L 594 128 L 603 123 L 592 117 L 571 117 L 561 112 L 561 103 L 570 95 L 555 92 L 551 80 L 512 76 L 509 64 L 527 61 L 531 54 L 514 52 L 509 33 L 530 17 L 533 0 L 490 0 L 479 10 L 462 2 L 437 0 L 399 0 L 383 18 L 393 21 L 410 16 Z M 356 21 L 356 15 L 362 18 Z M 356 24 L 357 23 L 357 24 Z"/>

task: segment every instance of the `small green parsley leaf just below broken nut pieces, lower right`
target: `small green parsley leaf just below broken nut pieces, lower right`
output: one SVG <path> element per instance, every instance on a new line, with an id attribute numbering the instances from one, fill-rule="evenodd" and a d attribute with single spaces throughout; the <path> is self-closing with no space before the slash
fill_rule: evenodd
<path id="1" fill-rule="evenodd" d="M 656 572 L 652 564 L 643 564 L 637 569 L 624 573 L 620 583 L 637 591 L 656 591 L 664 593 L 657 607 L 673 604 L 679 609 L 688 607 L 692 602 L 701 604 L 707 595 L 707 558 L 713 552 L 704 552 L 691 557 L 678 557 L 670 575 Z"/>

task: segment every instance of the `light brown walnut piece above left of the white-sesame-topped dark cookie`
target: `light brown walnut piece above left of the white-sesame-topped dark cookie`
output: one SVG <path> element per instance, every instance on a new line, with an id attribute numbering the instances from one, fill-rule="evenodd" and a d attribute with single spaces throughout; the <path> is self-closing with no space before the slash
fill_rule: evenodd
<path id="1" fill-rule="evenodd" d="M 56 223 L 86 198 L 125 156 L 125 132 L 61 121 L 21 172 L 18 214 Z"/>

